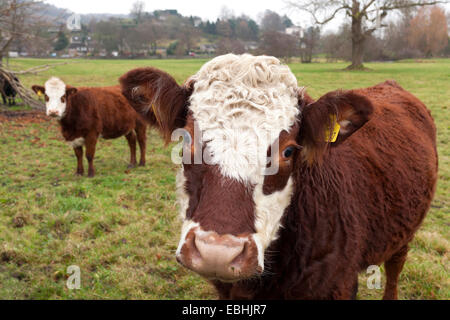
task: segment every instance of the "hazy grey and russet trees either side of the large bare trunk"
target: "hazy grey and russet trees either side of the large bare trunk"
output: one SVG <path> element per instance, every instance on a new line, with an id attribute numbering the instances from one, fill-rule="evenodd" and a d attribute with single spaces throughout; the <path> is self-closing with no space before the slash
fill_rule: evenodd
<path id="1" fill-rule="evenodd" d="M 400 17 L 365 39 L 364 61 L 450 56 L 448 16 L 444 9 L 405 9 Z M 352 61 L 352 26 L 343 24 L 335 33 L 323 35 L 318 52 L 328 61 Z"/>

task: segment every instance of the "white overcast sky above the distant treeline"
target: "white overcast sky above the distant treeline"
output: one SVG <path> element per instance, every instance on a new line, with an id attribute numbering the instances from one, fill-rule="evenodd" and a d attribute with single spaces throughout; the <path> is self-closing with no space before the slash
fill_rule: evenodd
<path id="1" fill-rule="evenodd" d="M 310 17 L 300 14 L 286 7 L 283 0 L 143 0 L 146 11 L 160 9 L 177 9 L 184 16 L 199 16 L 204 20 L 216 20 L 224 6 L 231 9 L 236 16 L 246 14 L 258 20 L 259 15 L 266 9 L 280 15 L 287 14 L 298 25 L 309 25 Z M 46 0 L 60 8 L 66 8 L 76 13 L 121 13 L 128 14 L 134 0 Z M 333 22 L 329 28 L 339 25 Z M 328 29 L 328 28 L 327 28 Z"/>

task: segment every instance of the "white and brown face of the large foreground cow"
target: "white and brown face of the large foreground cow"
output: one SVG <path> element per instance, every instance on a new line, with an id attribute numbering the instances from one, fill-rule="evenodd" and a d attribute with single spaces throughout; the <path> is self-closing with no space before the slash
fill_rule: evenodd
<path id="1" fill-rule="evenodd" d="M 192 80 L 188 122 L 198 127 L 209 159 L 184 165 L 178 174 L 184 226 L 177 256 L 210 278 L 251 277 L 264 270 L 265 251 L 293 194 L 290 172 L 271 174 L 282 180 L 275 188 L 266 177 L 269 151 L 277 169 L 292 166 L 283 152 L 293 152 L 295 137 L 281 136 L 289 136 L 297 122 L 297 80 L 278 59 L 250 55 L 218 57 Z M 193 131 L 189 124 L 186 130 Z"/>

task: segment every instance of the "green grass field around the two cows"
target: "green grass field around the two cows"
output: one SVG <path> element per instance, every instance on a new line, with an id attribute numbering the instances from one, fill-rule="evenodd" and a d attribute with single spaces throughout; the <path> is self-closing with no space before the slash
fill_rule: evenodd
<path id="1" fill-rule="evenodd" d="M 31 86 L 55 75 L 75 86 L 112 85 L 126 71 L 151 65 L 183 82 L 204 62 L 79 60 L 21 80 Z M 18 59 L 10 67 L 47 63 Z M 314 98 L 395 79 L 432 110 L 439 130 L 440 181 L 432 210 L 411 245 L 399 296 L 450 299 L 450 60 L 367 64 L 370 72 L 340 71 L 345 64 L 290 67 Z M 87 179 L 74 176 L 75 155 L 56 121 L 0 119 L 0 299 L 217 298 L 207 282 L 175 261 L 177 168 L 155 131 L 149 133 L 147 167 L 126 169 L 125 138 L 101 141 L 97 176 Z M 81 268 L 81 290 L 66 288 L 71 265 Z M 359 298 L 381 298 L 382 290 L 368 290 L 365 279 L 361 275 Z"/>

